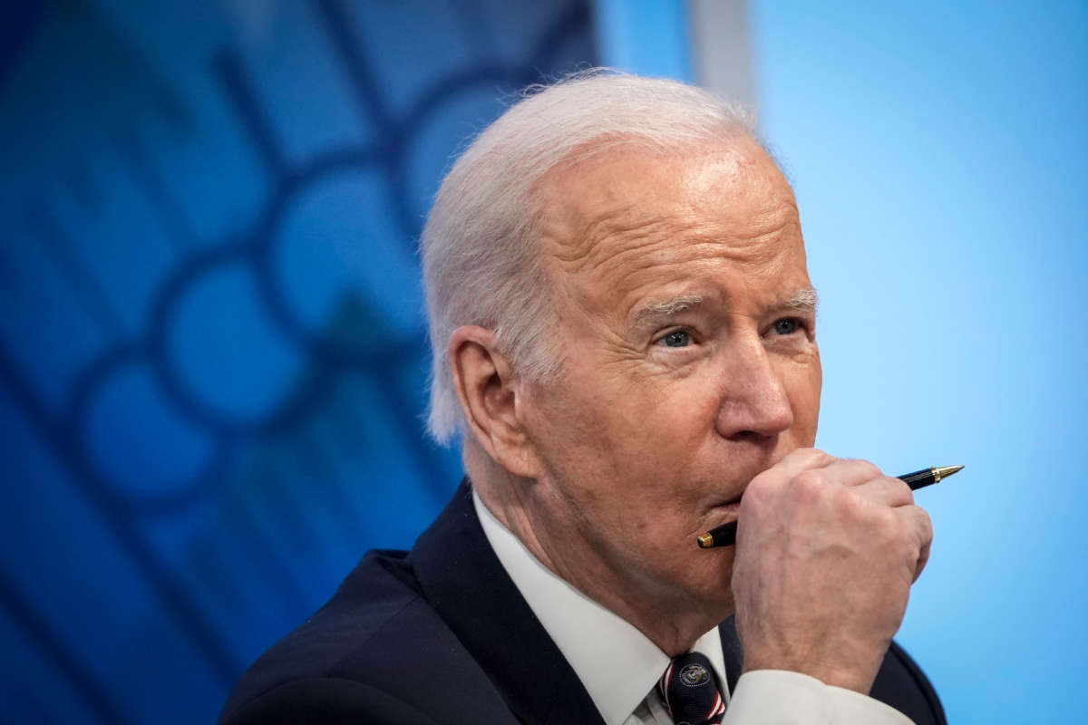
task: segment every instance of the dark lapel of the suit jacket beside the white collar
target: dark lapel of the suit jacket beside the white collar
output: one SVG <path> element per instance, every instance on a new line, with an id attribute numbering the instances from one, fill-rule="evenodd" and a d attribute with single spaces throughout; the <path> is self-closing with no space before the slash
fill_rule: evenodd
<path id="1" fill-rule="evenodd" d="M 466 479 L 411 552 L 423 595 L 523 723 L 602 723 L 484 536 Z"/>

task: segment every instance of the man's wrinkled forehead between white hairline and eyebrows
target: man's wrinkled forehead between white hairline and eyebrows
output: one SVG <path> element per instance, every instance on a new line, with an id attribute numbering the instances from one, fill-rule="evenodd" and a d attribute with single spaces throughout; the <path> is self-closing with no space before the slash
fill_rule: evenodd
<path id="1" fill-rule="evenodd" d="M 796 202 L 749 138 L 671 155 L 609 152 L 542 189 L 541 250 L 557 284 L 626 312 L 645 295 L 807 287 Z"/>

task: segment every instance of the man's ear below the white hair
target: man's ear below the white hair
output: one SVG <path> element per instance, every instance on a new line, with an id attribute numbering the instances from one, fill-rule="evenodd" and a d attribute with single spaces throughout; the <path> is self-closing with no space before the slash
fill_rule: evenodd
<path id="1" fill-rule="evenodd" d="M 449 371 L 469 433 L 509 473 L 537 477 L 536 458 L 518 416 L 514 366 L 495 345 L 495 334 L 465 325 L 449 336 Z"/>

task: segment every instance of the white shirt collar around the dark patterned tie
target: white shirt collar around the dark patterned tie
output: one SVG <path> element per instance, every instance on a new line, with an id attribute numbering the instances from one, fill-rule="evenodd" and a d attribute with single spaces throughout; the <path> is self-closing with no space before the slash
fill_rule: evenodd
<path id="1" fill-rule="evenodd" d="M 472 503 L 503 568 L 570 663 L 606 725 L 623 723 L 656 685 L 670 658 L 634 625 L 540 563 L 474 489 Z M 693 649 L 710 660 L 718 682 L 726 683 L 717 628 L 700 637 Z M 722 696 L 728 697 L 725 691 Z"/>

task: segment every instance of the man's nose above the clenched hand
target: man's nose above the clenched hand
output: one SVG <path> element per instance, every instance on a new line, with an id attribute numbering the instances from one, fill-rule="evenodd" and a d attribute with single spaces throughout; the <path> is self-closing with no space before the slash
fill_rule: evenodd
<path id="1" fill-rule="evenodd" d="M 758 336 L 734 340 L 721 375 L 716 427 L 724 438 L 769 438 L 793 425 L 781 373 Z"/>

